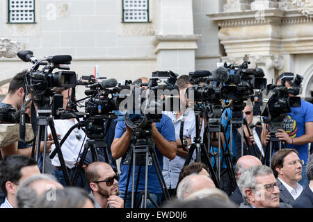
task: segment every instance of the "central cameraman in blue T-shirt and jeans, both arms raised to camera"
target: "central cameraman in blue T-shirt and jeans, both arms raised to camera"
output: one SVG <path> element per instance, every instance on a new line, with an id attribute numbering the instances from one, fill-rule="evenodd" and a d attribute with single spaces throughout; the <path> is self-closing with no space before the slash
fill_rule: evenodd
<path id="1" fill-rule="evenodd" d="M 141 78 L 143 83 L 147 83 L 146 78 Z M 125 122 L 118 122 L 115 128 L 115 139 L 111 145 L 112 156 L 115 160 L 123 157 L 127 154 L 130 146 L 132 130 L 125 124 Z M 161 121 L 157 123 L 152 123 L 152 139 L 156 145 L 156 153 L 161 169 L 163 168 L 163 156 L 168 157 L 170 160 L 175 158 L 177 145 L 175 139 L 175 129 L 172 124 L 170 117 L 162 115 Z M 138 172 L 139 166 L 136 166 L 136 172 Z M 120 181 L 118 185 L 120 187 L 120 197 L 124 198 L 125 189 L 127 183 L 127 175 L 129 171 L 129 165 L 120 164 Z M 132 170 L 131 170 L 132 171 Z M 131 178 L 129 180 L 129 187 L 127 190 L 127 200 L 125 200 L 125 207 L 131 207 Z M 136 181 L 135 181 L 136 182 Z M 145 167 L 141 167 L 138 191 L 135 193 L 137 200 L 134 200 L 134 205 L 136 206 L 139 200 L 138 192 L 145 189 Z M 156 170 L 153 166 L 148 167 L 148 182 L 147 189 L 150 193 L 150 197 L 154 200 L 154 203 L 161 205 L 162 189 L 159 184 Z M 147 208 L 154 207 L 149 199 L 147 199 Z"/>

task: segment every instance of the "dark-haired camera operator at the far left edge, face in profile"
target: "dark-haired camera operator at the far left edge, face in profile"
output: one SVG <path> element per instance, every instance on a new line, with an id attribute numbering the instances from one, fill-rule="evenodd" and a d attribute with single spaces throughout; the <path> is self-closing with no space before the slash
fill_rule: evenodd
<path id="1" fill-rule="evenodd" d="M 14 110 L 19 110 L 23 103 L 24 103 L 24 78 L 27 70 L 23 70 L 16 74 L 13 79 L 10 81 L 10 85 L 8 88 L 8 94 L 3 99 L 3 101 L 0 103 L 0 108 L 13 108 Z M 30 105 L 26 107 L 25 113 L 29 114 L 30 116 Z M 28 113 L 29 112 L 29 113 Z M 51 144 L 54 144 L 54 141 L 51 138 L 51 135 L 48 135 L 47 140 L 47 151 L 49 152 L 51 148 Z M 26 142 L 15 142 L 13 144 L 10 144 L 6 147 L 1 148 L 1 156 L 4 158 L 6 155 L 13 155 L 13 154 L 21 154 L 21 155 L 27 155 L 31 157 L 31 151 L 32 151 L 32 145 L 27 144 Z M 43 152 L 43 144 L 40 146 L 40 153 Z"/>

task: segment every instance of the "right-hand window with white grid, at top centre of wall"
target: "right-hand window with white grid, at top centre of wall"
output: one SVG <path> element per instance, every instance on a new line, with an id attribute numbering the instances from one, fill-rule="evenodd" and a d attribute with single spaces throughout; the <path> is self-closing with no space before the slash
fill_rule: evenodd
<path id="1" fill-rule="evenodd" d="M 123 22 L 149 22 L 149 0 L 122 0 Z"/>

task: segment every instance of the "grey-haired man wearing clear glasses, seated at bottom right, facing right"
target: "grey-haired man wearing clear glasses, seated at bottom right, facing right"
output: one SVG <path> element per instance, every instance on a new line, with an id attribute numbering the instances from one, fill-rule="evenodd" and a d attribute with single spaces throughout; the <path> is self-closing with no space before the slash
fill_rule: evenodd
<path id="1" fill-rule="evenodd" d="M 239 189 L 244 202 L 239 208 L 292 208 L 280 203 L 280 190 L 271 168 L 252 166 L 239 179 Z"/>

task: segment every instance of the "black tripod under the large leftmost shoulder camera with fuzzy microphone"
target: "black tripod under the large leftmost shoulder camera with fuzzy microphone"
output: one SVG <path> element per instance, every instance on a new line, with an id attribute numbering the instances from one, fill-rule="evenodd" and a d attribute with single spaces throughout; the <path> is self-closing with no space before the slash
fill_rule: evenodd
<path id="1" fill-rule="evenodd" d="M 42 173 L 45 173 L 45 157 L 46 157 L 46 152 L 47 152 L 47 137 L 48 137 L 47 126 L 50 126 L 52 138 L 54 139 L 54 145 L 56 146 L 56 153 L 58 153 L 58 158 L 60 160 L 61 169 L 65 177 L 66 185 L 71 186 L 70 177 L 68 175 L 68 172 L 65 166 L 65 161 L 64 161 L 63 154 L 61 151 L 61 145 L 58 142 L 58 136 L 56 135 L 56 128 L 54 128 L 54 121 L 51 115 L 51 108 L 49 107 L 49 105 L 38 107 L 38 134 L 37 134 L 37 138 L 35 139 L 36 140 L 35 144 L 37 144 L 37 152 L 35 154 L 35 160 L 37 160 L 37 162 L 39 160 L 40 142 L 42 140 L 41 136 L 42 136 L 42 132 L 44 132 L 45 142 L 44 142 L 44 152 L 43 152 L 43 160 L 42 160 Z M 35 151 L 35 145 L 33 145 L 32 153 L 35 153 L 34 151 Z"/>

